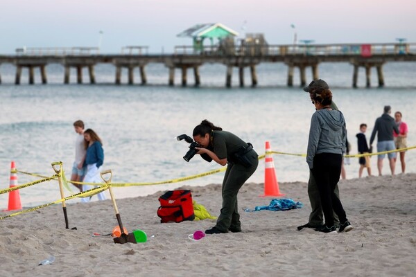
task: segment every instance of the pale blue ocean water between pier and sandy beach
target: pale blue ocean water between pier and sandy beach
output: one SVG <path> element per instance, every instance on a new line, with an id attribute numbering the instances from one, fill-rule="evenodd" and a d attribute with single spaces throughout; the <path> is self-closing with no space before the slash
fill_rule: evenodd
<path id="1" fill-rule="evenodd" d="M 189 86 L 180 86 L 180 71 L 176 71 L 175 87 L 168 87 L 168 69 L 153 64 L 146 67 L 148 85 L 141 86 L 139 71 L 135 85 L 114 85 L 114 67 L 96 66 L 97 84 L 75 84 L 76 73 L 71 71 L 71 84 L 62 84 L 62 66 L 47 67 L 49 84 L 27 84 L 23 71 L 21 85 L 13 84 L 15 67 L 0 66 L 0 188 L 8 188 L 10 161 L 18 170 L 51 176 L 51 163 L 62 161 L 67 178 L 71 175 L 74 157 L 73 121 L 84 120 L 103 140 L 105 161 L 103 169 L 111 169 L 113 182 L 155 182 L 220 168 L 196 156 L 189 163 L 182 157 L 188 144 L 177 141 L 180 134 L 189 134 L 202 119 L 207 118 L 223 129 L 234 132 L 251 142 L 259 154 L 270 141 L 272 150 L 301 154 L 306 152 L 309 124 L 314 107 L 308 93 L 300 89 L 299 73 L 295 71 L 295 86 L 286 87 L 287 69 L 283 64 L 261 64 L 257 69 L 259 85 L 250 87 L 249 71 L 245 73 L 246 87 L 238 86 L 238 72 L 233 75 L 233 87 L 225 88 L 225 66 L 207 64 L 200 69 L 201 86 L 193 87 L 189 71 Z M 374 121 L 381 116 L 384 105 L 401 111 L 408 123 L 408 146 L 416 145 L 416 63 L 389 63 L 384 66 L 385 87 L 376 87 L 376 73 L 372 72 L 372 87 L 366 89 L 365 73 L 359 72 L 358 89 L 352 89 L 352 66 L 322 64 L 320 78 L 327 80 L 333 100 L 347 120 L 350 154 L 357 152 L 356 137 L 359 125 L 367 123 L 367 139 Z M 306 74 L 311 80 L 311 72 Z M 374 143 L 375 147 L 375 143 Z M 273 155 L 279 182 L 307 181 L 309 170 L 304 157 Z M 416 171 L 416 150 L 406 153 L 407 172 Z M 358 159 L 346 166 L 347 179 L 358 177 Z M 400 167 L 397 165 L 396 172 Z M 372 172 L 377 174 L 376 158 L 372 158 Z M 115 188 L 116 198 L 148 195 L 177 186 L 220 184 L 223 172 L 176 184 Z M 385 159 L 383 174 L 390 174 Z M 364 176 L 366 173 L 364 172 Z M 264 162 L 248 180 L 261 183 Z M 19 184 L 37 178 L 18 175 Z M 73 189 L 75 192 L 76 189 Z M 261 192 L 259 192 L 261 193 Z M 69 192 L 66 192 L 69 195 Z M 57 181 L 50 181 L 20 191 L 23 206 L 35 206 L 60 199 Z M 108 195 L 107 195 L 108 196 Z M 219 195 L 218 195 L 219 197 Z M 95 197 L 96 198 L 96 197 Z M 94 199 L 95 200 L 95 199 Z M 70 200 L 78 202 L 78 199 Z M 155 200 L 156 201 L 156 200 Z M 0 195 L 0 208 L 7 207 L 7 194 Z"/>

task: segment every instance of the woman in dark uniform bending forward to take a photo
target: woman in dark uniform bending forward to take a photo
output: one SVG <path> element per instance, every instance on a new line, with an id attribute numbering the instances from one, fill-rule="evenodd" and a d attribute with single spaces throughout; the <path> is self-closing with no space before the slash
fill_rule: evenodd
<path id="1" fill-rule="evenodd" d="M 227 165 L 223 180 L 223 207 L 216 226 L 205 231 L 207 234 L 241 232 L 237 194 L 241 186 L 256 171 L 259 165 L 257 153 L 250 143 L 245 143 L 235 134 L 223 131 L 208 120 L 193 129 L 193 140 L 200 145 L 197 154 L 207 161 Z"/>

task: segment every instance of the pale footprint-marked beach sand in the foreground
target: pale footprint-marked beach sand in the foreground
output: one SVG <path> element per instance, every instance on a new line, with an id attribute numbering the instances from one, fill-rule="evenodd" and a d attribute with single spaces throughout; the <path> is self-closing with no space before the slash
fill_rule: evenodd
<path id="1" fill-rule="evenodd" d="M 157 199 L 164 192 L 118 199 L 125 228 L 148 235 L 139 244 L 92 236 L 117 225 L 110 199 L 70 200 L 70 229 L 60 204 L 0 221 L 0 276 L 415 276 L 415 184 L 415 174 L 341 180 L 340 198 L 354 229 L 329 234 L 297 231 L 311 212 L 306 183 L 279 183 L 303 208 L 257 212 L 243 208 L 268 205 L 274 197 L 259 197 L 263 184 L 245 184 L 239 193 L 243 232 L 198 241 L 188 235 L 215 220 L 161 224 Z M 220 185 L 184 188 L 218 215 Z M 38 265 L 51 255 L 55 262 Z"/>

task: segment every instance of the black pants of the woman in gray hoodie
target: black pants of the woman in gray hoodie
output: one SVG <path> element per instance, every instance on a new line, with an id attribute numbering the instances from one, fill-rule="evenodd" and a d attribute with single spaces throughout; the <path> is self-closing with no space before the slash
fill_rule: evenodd
<path id="1" fill-rule="evenodd" d="M 320 153 L 313 158 L 312 173 L 318 185 L 325 224 L 329 227 L 333 226 L 332 210 L 338 215 L 340 223 L 347 220 L 343 204 L 334 193 L 335 186 L 340 180 L 342 161 L 341 154 Z"/>

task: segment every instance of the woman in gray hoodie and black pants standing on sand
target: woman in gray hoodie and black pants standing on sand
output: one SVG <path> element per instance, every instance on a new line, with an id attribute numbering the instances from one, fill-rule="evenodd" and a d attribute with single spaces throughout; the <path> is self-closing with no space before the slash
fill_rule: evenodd
<path id="1" fill-rule="evenodd" d="M 332 211 L 335 211 L 340 220 L 338 232 L 352 230 L 343 204 L 334 193 L 340 179 L 346 131 L 343 114 L 331 109 L 331 102 L 332 93 L 329 89 L 313 95 L 312 103 L 316 111 L 311 119 L 306 155 L 306 162 L 318 185 L 325 217 L 324 226 L 316 231 L 324 233 L 336 232 Z"/>

